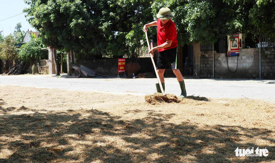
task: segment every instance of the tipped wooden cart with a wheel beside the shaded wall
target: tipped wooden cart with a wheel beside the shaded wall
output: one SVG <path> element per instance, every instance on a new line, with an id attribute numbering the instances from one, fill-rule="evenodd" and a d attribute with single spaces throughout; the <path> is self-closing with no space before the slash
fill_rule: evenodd
<path id="1" fill-rule="evenodd" d="M 95 76 L 95 77 L 101 77 L 101 78 L 102 77 L 109 77 L 109 76 L 106 76 L 106 75 L 100 75 L 100 74 L 98 74 L 98 73 L 90 70 L 89 68 L 83 66 L 83 65 L 80 65 L 80 67 L 77 67 L 76 65 L 73 65 L 72 68 L 75 69 L 74 74 L 75 74 L 76 78 L 79 78 L 81 76 L 81 74 L 84 75 L 84 76 L 86 76 L 86 77 L 91 77 L 91 76 L 92 77 L 93 76 Z"/>

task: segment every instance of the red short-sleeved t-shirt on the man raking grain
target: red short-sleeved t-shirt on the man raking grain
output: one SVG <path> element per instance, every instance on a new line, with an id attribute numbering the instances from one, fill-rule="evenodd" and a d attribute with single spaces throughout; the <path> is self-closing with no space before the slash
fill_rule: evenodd
<path id="1" fill-rule="evenodd" d="M 178 46 L 177 41 L 177 29 L 176 25 L 172 20 L 169 20 L 164 27 L 162 27 L 161 20 L 158 19 L 157 24 L 157 38 L 158 38 L 158 46 L 165 43 L 167 40 L 172 40 L 172 44 L 170 47 L 158 49 L 158 52 L 162 52 L 163 50 L 172 49 Z"/>

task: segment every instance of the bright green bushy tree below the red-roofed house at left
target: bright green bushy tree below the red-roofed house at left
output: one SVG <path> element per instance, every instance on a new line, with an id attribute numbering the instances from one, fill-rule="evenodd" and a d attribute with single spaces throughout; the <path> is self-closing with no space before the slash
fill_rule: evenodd
<path id="1" fill-rule="evenodd" d="M 35 61 L 36 59 L 48 59 L 48 51 L 42 50 L 43 44 L 41 38 L 34 38 L 23 44 L 19 53 L 20 60 L 23 62 Z"/>

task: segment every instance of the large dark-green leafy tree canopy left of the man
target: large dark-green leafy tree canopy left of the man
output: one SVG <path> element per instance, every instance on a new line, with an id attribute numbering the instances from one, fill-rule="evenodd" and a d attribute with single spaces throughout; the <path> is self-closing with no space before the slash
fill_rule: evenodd
<path id="1" fill-rule="evenodd" d="M 43 43 L 80 57 L 93 53 L 132 55 L 144 38 L 142 26 L 151 19 L 149 0 L 25 0 L 28 21 Z M 134 11 L 138 10 L 138 13 Z M 133 40 L 133 41 L 131 41 Z"/>

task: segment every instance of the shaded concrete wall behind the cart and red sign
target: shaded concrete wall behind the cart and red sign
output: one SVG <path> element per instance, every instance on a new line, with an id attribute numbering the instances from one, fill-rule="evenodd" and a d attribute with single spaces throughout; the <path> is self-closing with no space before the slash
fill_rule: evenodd
<path id="1" fill-rule="evenodd" d="M 155 57 L 154 57 L 155 58 Z M 150 58 L 126 58 L 125 64 L 129 62 L 137 62 L 141 66 L 139 72 L 153 72 L 153 66 Z M 75 61 L 75 65 L 80 67 L 84 65 L 92 71 L 101 74 L 116 77 L 118 75 L 118 58 L 97 59 L 89 61 Z M 124 73 L 119 73 L 124 76 Z M 126 71 L 126 76 L 128 76 Z"/>

